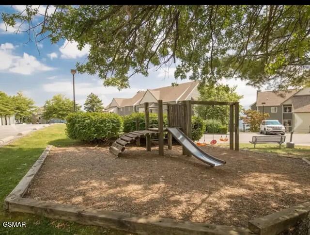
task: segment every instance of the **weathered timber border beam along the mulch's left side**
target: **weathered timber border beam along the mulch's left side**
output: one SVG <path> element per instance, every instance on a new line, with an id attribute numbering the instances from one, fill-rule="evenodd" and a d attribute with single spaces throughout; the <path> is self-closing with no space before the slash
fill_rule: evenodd
<path id="1" fill-rule="evenodd" d="M 8 209 L 8 201 L 16 198 L 22 198 L 26 193 L 33 177 L 38 173 L 42 164 L 44 163 L 49 151 L 53 146 L 48 145 L 47 148 L 43 151 L 41 156 L 36 160 L 36 162 L 32 165 L 26 175 L 19 181 L 18 185 L 13 189 L 13 191 L 6 197 L 4 200 L 4 209 Z"/>

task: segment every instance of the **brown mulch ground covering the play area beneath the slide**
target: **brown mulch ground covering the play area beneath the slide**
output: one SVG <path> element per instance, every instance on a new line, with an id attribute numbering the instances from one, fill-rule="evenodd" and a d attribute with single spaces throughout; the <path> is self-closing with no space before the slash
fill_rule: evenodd
<path id="1" fill-rule="evenodd" d="M 159 156 L 129 147 L 53 148 L 26 197 L 162 218 L 248 226 L 248 220 L 310 201 L 300 159 L 202 147 L 227 162 L 211 168 L 182 147 Z"/>

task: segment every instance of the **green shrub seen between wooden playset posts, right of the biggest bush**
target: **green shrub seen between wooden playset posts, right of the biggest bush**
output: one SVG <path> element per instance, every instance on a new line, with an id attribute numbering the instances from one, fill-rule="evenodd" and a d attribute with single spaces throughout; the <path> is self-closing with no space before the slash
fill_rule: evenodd
<path id="1" fill-rule="evenodd" d="M 164 126 L 167 125 L 167 115 L 164 117 Z M 132 113 L 123 117 L 124 119 L 124 133 L 136 131 L 136 120 L 139 121 L 139 130 L 145 130 L 145 116 L 144 113 Z M 157 114 L 150 113 L 150 127 L 158 127 Z"/>

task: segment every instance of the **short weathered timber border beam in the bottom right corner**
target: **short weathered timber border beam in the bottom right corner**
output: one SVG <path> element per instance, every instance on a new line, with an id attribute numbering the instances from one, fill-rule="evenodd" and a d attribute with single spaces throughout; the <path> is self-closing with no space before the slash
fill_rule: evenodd
<path id="1" fill-rule="evenodd" d="M 310 202 L 290 207 L 248 222 L 248 228 L 258 235 L 276 235 L 294 226 L 310 214 Z"/>

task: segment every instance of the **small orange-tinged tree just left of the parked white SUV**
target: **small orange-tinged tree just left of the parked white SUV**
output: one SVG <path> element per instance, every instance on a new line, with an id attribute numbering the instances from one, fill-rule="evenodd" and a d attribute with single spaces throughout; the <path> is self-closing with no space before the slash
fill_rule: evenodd
<path id="1" fill-rule="evenodd" d="M 269 117 L 268 113 L 261 113 L 260 111 L 247 109 L 243 110 L 244 117 L 241 117 L 245 124 L 250 126 L 250 132 L 258 132 L 260 129 L 260 124 L 264 119 Z"/>

